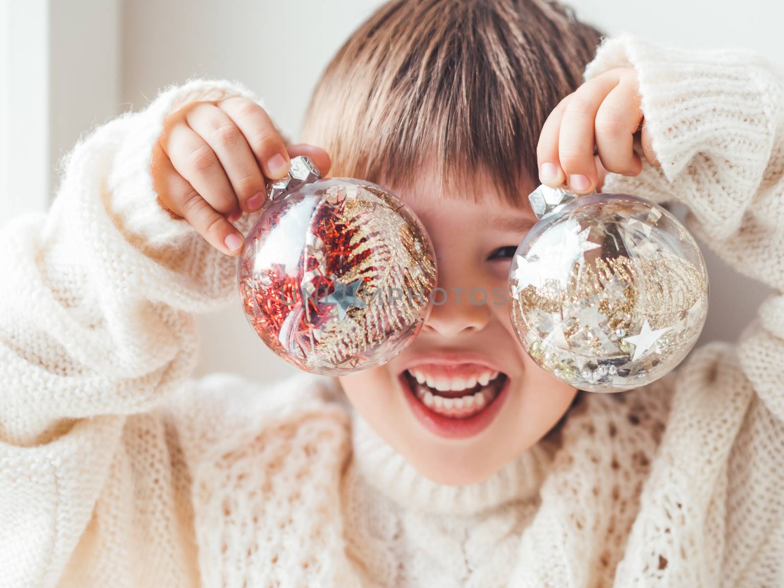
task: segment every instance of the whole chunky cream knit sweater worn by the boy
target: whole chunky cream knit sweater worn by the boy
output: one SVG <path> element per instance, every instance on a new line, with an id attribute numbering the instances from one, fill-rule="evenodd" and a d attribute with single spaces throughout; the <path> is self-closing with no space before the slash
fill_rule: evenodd
<path id="1" fill-rule="evenodd" d="M 586 78 L 628 64 L 662 169 L 605 191 L 686 203 L 784 291 L 781 78 L 626 35 Z M 737 347 L 587 394 L 560 437 L 460 488 L 330 380 L 192 378 L 194 315 L 237 304 L 236 260 L 158 205 L 151 147 L 173 108 L 236 94 L 193 80 L 103 125 L 49 212 L 0 232 L 0 586 L 784 586 L 781 295 Z"/>

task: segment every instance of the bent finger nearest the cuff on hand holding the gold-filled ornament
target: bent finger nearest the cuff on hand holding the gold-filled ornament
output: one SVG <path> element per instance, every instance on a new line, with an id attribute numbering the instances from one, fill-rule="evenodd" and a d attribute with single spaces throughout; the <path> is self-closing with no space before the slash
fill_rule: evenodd
<path id="1" fill-rule="evenodd" d="M 594 130 L 599 158 L 609 172 L 637 176 L 642 171 L 640 156 L 633 150 L 634 133 L 641 119 L 639 99 L 623 83 L 602 101 Z"/>

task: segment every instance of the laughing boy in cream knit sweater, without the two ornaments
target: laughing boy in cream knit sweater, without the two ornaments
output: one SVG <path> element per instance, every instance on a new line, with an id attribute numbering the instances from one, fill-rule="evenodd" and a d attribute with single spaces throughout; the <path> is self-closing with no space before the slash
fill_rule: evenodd
<path id="1" fill-rule="evenodd" d="M 456 300 L 339 387 L 189 378 L 194 313 L 235 302 L 263 178 L 294 154 L 400 194 L 448 291 L 503 286 L 525 195 L 601 187 L 597 158 L 608 191 L 686 202 L 781 290 L 780 79 L 746 53 L 598 42 L 550 3 L 390 2 L 314 93 L 303 139 L 325 151 L 202 80 L 79 143 L 48 215 L 0 235 L 2 583 L 779 584 L 780 296 L 737 350 L 622 394 L 579 397 L 503 307 Z"/>

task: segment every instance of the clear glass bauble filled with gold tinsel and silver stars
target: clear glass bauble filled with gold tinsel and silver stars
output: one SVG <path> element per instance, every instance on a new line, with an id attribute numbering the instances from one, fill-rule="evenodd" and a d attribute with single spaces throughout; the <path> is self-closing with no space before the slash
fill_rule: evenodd
<path id="1" fill-rule="evenodd" d="M 705 261 L 666 209 L 540 186 L 510 267 L 510 313 L 533 360 L 581 390 L 644 386 L 688 354 L 708 310 Z"/>

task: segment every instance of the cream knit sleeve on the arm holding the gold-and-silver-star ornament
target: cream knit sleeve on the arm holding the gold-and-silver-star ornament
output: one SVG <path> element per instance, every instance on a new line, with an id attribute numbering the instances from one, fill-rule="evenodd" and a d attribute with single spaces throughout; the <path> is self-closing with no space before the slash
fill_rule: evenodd
<path id="1" fill-rule="evenodd" d="M 739 355 L 784 423 L 784 77 L 758 53 L 670 49 L 628 34 L 605 38 L 584 77 L 629 66 L 661 168 L 644 162 L 635 177 L 610 173 L 604 191 L 688 205 L 696 238 L 777 291 L 742 335 Z"/>

